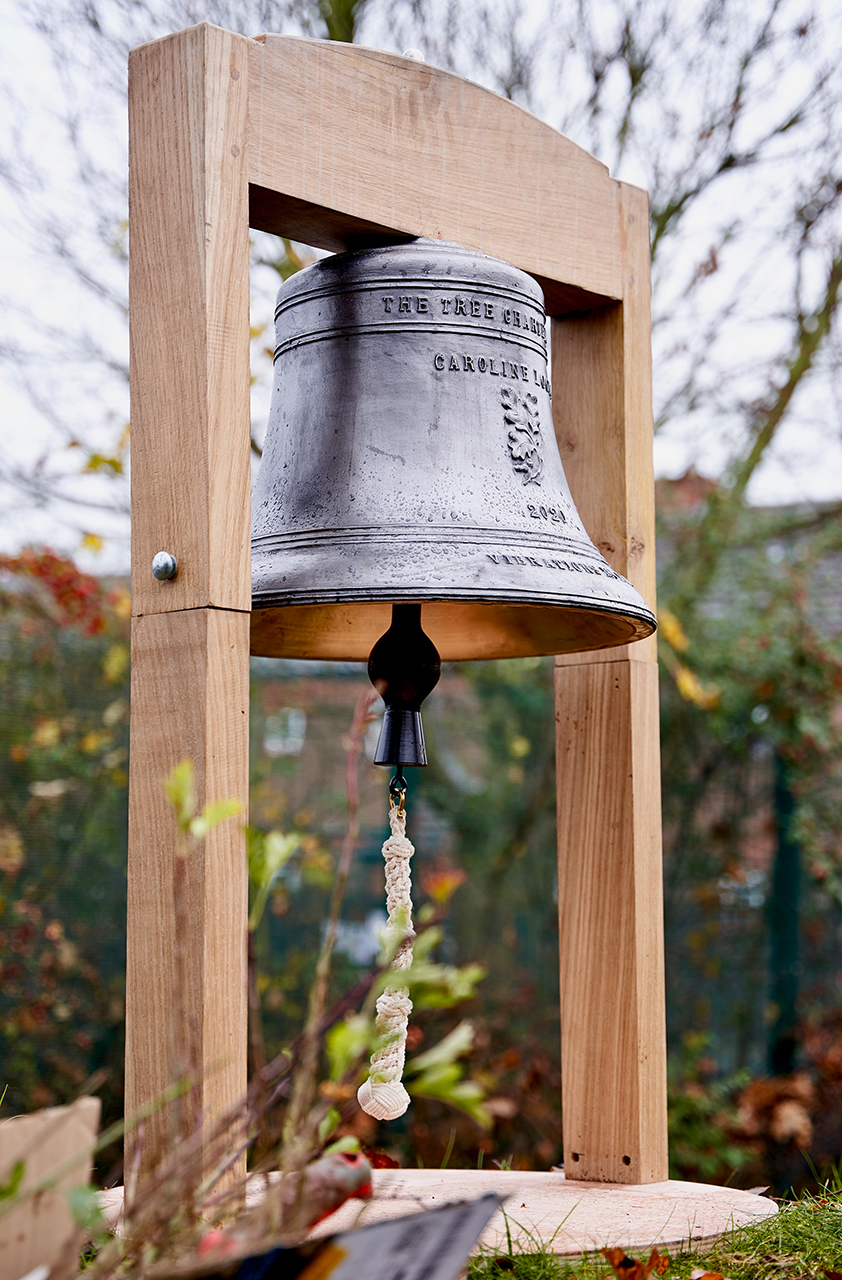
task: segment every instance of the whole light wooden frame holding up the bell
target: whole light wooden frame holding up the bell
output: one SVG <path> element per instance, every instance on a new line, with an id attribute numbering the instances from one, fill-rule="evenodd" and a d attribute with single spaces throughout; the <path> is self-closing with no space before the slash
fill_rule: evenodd
<path id="1" fill-rule="evenodd" d="M 248 227 L 339 250 L 433 236 L 522 268 L 553 316 L 555 430 L 584 522 L 654 605 L 642 192 L 448 72 L 202 24 L 129 60 L 132 756 L 127 1115 L 169 1083 L 178 964 L 201 1103 L 246 1087 L 246 859 L 234 820 L 189 861 L 161 780 L 248 800 Z M 179 572 L 151 575 L 169 550 Z M 651 640 L 558 659 L 564 1162 L 667 1176 L 658 687 Z M 147 1128 L 146 1158 L 165 1142 Z"/>

